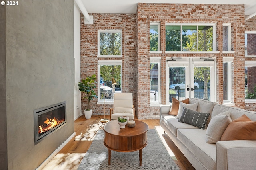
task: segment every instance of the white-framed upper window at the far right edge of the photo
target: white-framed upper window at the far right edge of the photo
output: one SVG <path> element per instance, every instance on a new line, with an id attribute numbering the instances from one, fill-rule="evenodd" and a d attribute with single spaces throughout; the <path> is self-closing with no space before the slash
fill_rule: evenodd
<path id="1" fill-rule="evenodd" d="M 245 32 L 245 56 L 256 57 L 256 32 Z"/>

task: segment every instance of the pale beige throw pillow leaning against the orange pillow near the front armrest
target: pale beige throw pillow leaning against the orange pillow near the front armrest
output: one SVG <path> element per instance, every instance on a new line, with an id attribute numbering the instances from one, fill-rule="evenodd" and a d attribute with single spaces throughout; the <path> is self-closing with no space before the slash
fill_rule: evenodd
<path id="1" fill-rule="evenodd" d="M 212 117 L 206 129 L 206 143 L 216 143 L 231 122 L 230 113 L 225 111 Z"/>

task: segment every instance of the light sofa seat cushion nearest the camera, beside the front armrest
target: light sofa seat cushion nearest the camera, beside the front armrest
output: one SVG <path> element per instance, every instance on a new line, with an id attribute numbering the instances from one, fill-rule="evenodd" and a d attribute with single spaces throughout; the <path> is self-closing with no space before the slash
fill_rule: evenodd
<path id="1" fill-rule="evenodd" d="M 178 129 L 177 138 L 205 169 L 216 169 L 216 144 L 205 142 L 206 129 Z"/>

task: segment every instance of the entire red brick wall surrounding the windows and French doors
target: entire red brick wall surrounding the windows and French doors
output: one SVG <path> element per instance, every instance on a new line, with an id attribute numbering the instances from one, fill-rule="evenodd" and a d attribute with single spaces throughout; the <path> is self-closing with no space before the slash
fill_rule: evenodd
<path id="1" fill-rule="evenodd" d="M 123 92 L 132 92 L 139 119 L 159 119 L 159 107 L 150 107 L 150 57 L 161 57 L 162 104 L 166 104 L 166 57 L 213 57 L 216 58 L 216 98 L 223 102 L 223 57 L 234 57 L 232 64 L 232 87 L 235 107 L 245 108 L 244 103 L 244 31 L 255 29 L 255 17 L 244 22 L 244 5 L 241 4 L 144 4 L 138 3 L 137 14 L 90 14 L 94 24 L 84 25 L 81 16 L 81 79 L 97 74 L 98 30 L 122 29 L 122 87 Z M 249 23 L 250 21 L 250 23 Z M 150 22 L 160 22 L 161 51 L 150 51 Z M 217 51 L 220 53 L 165 53 L 166 23 L 216 23 Z M 223 51 L 223 23 L 231 23 L 232 51 Z M 246 27 L 246 29 L 245 29 Z M 111 58 L 118 60 L 119 58 Z M 252 59 L 253 60 L 253 59 Z M 82 101 L 82 109 L 84 109 Z M 247 105 L 246 105 L 247 106 Z M 106 114 L 109 114 L 106 106 Z M 103 105 L 92 102 L 93 115 L 103 114 Z"/>

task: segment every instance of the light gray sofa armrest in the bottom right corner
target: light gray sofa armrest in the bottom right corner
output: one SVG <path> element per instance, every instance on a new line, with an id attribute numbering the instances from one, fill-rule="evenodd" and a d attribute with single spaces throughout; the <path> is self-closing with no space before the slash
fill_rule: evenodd
<path id="1" fill-rule="evenodd" d="M 256 140 L 218 141 L 216 170 L 255 170 Z"/>

